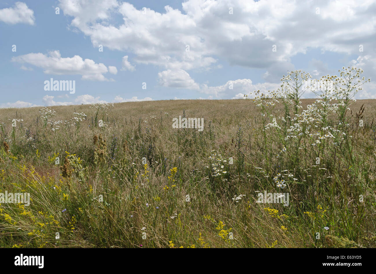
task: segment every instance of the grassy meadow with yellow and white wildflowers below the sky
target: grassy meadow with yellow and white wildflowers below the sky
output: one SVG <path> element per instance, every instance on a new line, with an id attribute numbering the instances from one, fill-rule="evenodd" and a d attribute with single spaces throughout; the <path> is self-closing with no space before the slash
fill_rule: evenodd
<path id="1" fill-rule="evenodd" d="M 0 109 L 0 246 L 376 247 L 376 100 L 254 101 Z"/>

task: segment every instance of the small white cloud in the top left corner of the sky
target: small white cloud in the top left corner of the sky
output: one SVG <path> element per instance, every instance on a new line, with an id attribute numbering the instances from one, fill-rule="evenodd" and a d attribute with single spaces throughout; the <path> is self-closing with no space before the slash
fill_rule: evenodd
<path id="1" fill-rule="evenodd" d="M 0 9 L 0 21 L 8 24 L 35 24 L 34 12 L 23 2 L 16 2 L 14 7 Z"/>

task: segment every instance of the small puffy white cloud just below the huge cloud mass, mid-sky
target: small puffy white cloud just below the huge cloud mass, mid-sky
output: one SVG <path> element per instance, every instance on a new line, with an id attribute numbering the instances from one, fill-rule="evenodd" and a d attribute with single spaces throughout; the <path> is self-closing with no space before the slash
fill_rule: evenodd
<path id="1" fill-rule="evenodd" d="M 163 87 L 187 88 L 189 90 L 199 90 L 199 85 L 194 82 L 185 70 L 164 70 L 158 73 L 159 84 Z"/>

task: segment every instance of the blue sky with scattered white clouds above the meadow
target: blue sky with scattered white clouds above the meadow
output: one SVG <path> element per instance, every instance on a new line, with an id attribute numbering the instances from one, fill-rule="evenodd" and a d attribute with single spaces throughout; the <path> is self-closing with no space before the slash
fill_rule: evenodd
<path id="1" fill-rule="evenodd" d="M 367 0 L 2 1 L 0 107 L 235 99 L 295 69 L 373 79 L 375 14 Z M 75 93 L 46 91 L 50 78 Z"/>

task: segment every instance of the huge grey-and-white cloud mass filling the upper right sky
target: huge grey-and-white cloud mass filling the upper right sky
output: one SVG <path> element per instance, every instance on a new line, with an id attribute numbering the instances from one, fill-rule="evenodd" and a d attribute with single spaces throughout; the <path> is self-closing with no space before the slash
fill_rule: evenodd
<path id="1" fill-rule="evenodd" d="M 136 63 L 165 70 L 210 69 L 218 67 L 216 57 L 221 56 L 232 66 L 265 69 L 264 79 L 271 82 L 293 69 L 291 57 L 309 48 L 355 54 L 362 41 L 371 55 L 376 52 L 371 39 L 376 21 L 369 20 L 376 3 L 371 0 L 304 5 L 281 0 L 188 0 L 182 11 L 165 6 L 162 13 L 115 0 L 59 1 L 64 14 L 73 18 L 71 27 L 89 36 L 94 46 L 132 52 Z M 115 13 L 123 16 L 117 26 L 109 23 Z"/>

